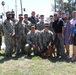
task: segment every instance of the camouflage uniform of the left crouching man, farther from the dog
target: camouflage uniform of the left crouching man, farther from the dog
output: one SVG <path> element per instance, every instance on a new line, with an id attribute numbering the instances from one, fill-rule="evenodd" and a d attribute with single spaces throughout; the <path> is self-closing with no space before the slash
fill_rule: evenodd
<path id="1" fill-rule="evenodd" d="M 39 49 L 40 46 L 40 32 L 38 30 L 35 30 L 35 32 L 29 31 L 27 34 L 27 44 L 25 46 L 27 55 L 31 55 L 32 46 L 35 45 L 35 48 L 33 48 L 34 55 L 39 55 Z"/>

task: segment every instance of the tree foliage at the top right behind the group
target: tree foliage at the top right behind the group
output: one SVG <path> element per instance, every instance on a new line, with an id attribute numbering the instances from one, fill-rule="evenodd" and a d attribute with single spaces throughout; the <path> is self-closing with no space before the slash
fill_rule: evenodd
<path id="1" fill-rule="evenodd" d="M 72 11 L 76 10 L 76 0 L 67 0 L 64 2 L 64 0 L 54 0 L 56 2 L 56 11 L 61 12 L 64 10 L 67 14 L 71 14 Z"/>

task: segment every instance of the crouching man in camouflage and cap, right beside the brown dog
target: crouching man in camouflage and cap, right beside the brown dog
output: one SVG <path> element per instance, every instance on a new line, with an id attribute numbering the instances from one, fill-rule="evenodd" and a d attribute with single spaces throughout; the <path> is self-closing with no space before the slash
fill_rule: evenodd
<path id="1" fill-rule="evenodd" d="M 54 41 L 53 32 L 49 30 L 48 23 L 45 23 L 45 27 L 41 31 L 40 37 L 41 37 L 41 46 L 40 46 L 41 48 L 40 56 L 41 56 L 43 53 L 46 52 L 46 50 L 48 50 L 49 45 L 52 45 Z"/>

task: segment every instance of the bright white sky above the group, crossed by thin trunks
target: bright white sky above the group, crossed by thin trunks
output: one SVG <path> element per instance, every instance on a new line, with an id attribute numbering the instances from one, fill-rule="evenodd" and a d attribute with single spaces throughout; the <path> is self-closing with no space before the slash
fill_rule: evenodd
<path id="1" fill-rule="evenodd" d="M 5 2 L 5 12 L 11 11 L 14 9 L 15 11 L 15 0 L 0 0 L 0 3 Z M 20 0 L 17 1 L 17 14 L 21 13 Z M 23 14 L 28 14 L 31 16 L 31 11 L 35 11 L 36 14 L 43 14 L 45 17 L 53 14 L 52 5 L 54 5 L 54 0 L 22 0 L 22 7 L 26 9 Z M 0 13 L 4 12 L 3 6 L 0 4 Z"/>

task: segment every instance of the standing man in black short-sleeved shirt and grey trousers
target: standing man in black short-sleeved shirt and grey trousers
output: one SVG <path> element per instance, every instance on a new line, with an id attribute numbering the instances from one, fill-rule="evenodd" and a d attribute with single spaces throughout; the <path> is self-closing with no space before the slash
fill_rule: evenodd
<path id="1" fill-rule="evenodd" d="M 58 12 L 54 13 L 54 22 L 53 22 L 54 36 L 59 39 L 59 43 L 57 44 L 57 57 L 61 56 L 66 59 L 65 48 L 64 48 L 64 23 L 61 19 L 59 19 Z M 58 46 L 59 45 L 59 46 Z"/>

